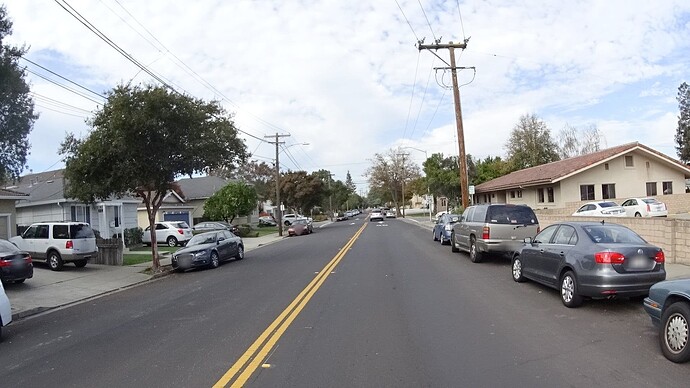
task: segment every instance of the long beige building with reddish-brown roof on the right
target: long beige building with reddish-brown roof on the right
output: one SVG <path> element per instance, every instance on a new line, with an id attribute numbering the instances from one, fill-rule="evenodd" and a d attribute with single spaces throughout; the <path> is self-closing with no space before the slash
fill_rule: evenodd
<path id="1" fill-rule="evenodd" d="M 475 187 L 474 203 L 572 209 L 582 201 L 685 193 L 690 168 L 638 142 L 515 171 Z"/>

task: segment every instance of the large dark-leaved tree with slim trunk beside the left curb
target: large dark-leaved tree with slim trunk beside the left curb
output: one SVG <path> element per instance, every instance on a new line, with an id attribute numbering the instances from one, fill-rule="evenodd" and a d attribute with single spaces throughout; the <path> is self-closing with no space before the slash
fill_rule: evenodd
<path id="1" fill-rule="evenodd" d="M 142 198 L 153 269 L 159 271 L 154 223 L 175 178 L 243 162 L 244 141 L 217 102 L 157 86 L 116 87 L 88 124 L 86 139 L 68 134 L 60 148 L 66 155 L 65 195 L 88 203 L 112 195 Z"/>

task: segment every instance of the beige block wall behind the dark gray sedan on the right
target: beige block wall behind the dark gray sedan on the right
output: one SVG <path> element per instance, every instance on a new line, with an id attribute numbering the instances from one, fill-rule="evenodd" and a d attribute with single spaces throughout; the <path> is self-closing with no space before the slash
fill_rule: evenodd
<path id="1" fill-rule="evenodd" d="M 670 197 L 669 195 L 664 198 Z M 553 214 L 537 213 L 539 226 L 545 227 L 559 221 L 596 221 L 602 217 L 573 217 Z M 606 221 L 627 226 L 642 236 L 650 244 L 661 247 L 666 255 L 666 261 L 674 264 L 690 265 L 690 220 L 674 218 L 632 218 L 616 217 Z"/>

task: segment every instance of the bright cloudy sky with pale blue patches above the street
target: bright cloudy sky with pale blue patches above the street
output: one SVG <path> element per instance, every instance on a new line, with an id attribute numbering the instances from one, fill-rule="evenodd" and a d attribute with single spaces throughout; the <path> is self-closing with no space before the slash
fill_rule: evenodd
<path id="1" fill-rule="evenodd" d="M 178 91 L 220 101 L 254 160 L 273 163 L 265 137 L 289 135 L 283 171 L 326 169 L 342 181 L 350 172 L 361 194 L 376 153 L 401 147 L 420 165 L 458 155 L 450 73 L 435 69 L 449 51 L 420 51 L 422 39 L 467 40 L 455 53 L 468 68 L 458 73 L 464 141 L 481 159 L 505 157 L 525 114 L 554 138 L 594 125 L 602 148 L 639 141 L 676 158 L 676 95 L 690 82 L 687 0 L 4 4 L 14 24 L 6 43 L 28 48 L 33 63 L 19 62 L 40 113 L 25 173 L 64 167 L 60 142 L 88 136 L 99 94 L 156 82 L 65 8 Z"/>

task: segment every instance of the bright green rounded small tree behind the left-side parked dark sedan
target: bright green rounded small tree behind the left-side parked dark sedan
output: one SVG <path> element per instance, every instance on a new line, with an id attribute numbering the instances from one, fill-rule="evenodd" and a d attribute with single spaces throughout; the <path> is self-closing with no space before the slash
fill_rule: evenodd
<path id="1" fill-rule="evenodd" d="M 232 222 L 235 217 L 251 214 L 256 201 L 253 186 L 244 182 L 231 182 L 206 200 L 204 216 L 212 221 Z"/>

